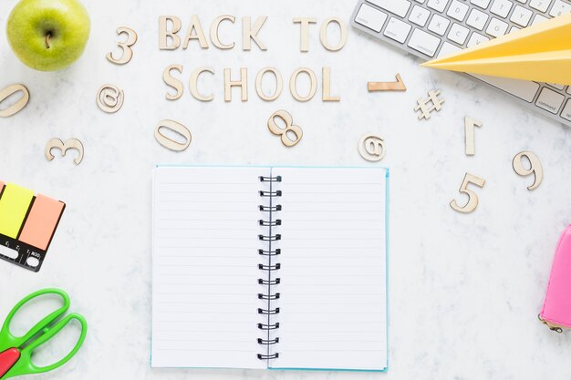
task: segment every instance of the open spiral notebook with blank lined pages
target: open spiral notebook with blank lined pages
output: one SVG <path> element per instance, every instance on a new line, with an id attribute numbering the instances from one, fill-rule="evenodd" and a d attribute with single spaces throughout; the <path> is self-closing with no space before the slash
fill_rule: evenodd
<path id="1" fill-rule="evenodd" d="M 153 175 L 153 367 L 387 369 L 388 169 Z"/>

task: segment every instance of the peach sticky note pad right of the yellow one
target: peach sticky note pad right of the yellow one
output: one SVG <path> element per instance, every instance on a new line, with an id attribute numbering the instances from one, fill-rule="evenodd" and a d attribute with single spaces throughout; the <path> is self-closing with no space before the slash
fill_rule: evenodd
<path id="1" fill-rule="evenodd" d="M 46 251 L 64 207 L 64 203 L 38 194 L 19 240 Z"/>

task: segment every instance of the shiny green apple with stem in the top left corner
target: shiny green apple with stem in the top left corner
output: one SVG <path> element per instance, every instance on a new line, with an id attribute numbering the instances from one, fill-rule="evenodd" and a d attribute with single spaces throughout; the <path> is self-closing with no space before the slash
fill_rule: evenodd
<path id="1" fill-rule="evenodd" d="M 56 71 L 74 63 L 89 37 L 89 15 L 78 0 L 21 0 L 8 17 L 8 42 L 28 67 Z"/>

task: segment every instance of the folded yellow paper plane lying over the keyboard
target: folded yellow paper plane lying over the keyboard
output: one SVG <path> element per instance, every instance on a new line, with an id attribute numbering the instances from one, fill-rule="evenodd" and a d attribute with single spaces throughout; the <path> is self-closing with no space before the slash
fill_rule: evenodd
<path id="1" fill-rule="evenodd" d="M 424 67 L 571 85 L 571 14 L 514 31 Z"/>

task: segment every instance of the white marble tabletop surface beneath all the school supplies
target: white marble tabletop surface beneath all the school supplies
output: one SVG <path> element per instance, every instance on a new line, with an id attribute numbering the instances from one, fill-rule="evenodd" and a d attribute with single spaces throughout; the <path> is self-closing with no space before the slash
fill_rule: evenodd
<path id="1" fill-rule="evenodd" d="M 12 181 L 67 202 L 67 211 L 44 267 L 38 274 L 0 262 L 0 318 L 26 293 L 57 286 L 71 294 L 73 310 L 88 318 L 87 342 L 72 363 L 41 378 L 71 379 L 569 379 L 571 335 L 551 333 L 537 321 L 555 243 L 571 222 L 571 128 L 522 108 L 489 87 L 418 61 L 354 30 L 338 53 L 319 45 L 298 50 L 294 16 L 348 19 L 354 2 L 111 1 L 86 0 L 92 33 L 85 55 L 59 73 L 24 67 L 5 40 L 5 21 L 16 0 L 0 3 L 0 87 L 24 83 L 31 100 L 13 118 L 0 119 L 0 180 Z M 268 15 L 261 33 L 266 52 L 241 49 L 158 49 L 158 16 L 178 15 L 183 31 L 198 14 L 206 32 L 216 15 Z M 129 65 L 109 64 L 115 29 L 139 32 Z M 240 26 L 222 36 L 240 46 Z M 230 31 L 233 29 L 234 31 Z M 184 66 L 185 94 L 164 99 L 162 70 Z M 212 66 L 215 100 L 200 103 L 186 82 L 194 67 Z M 274 103 L 254 92 L 261 67 L 284 77 L 301 66 L 332 67 L 338 104 L 318 97 L 297 103 L 286 91 Z M 223 102 L 223 67 L 250 69 L 250 100 Z M 391 80 L 400 72 L 409 90 L 366 91 L 371 79 Z M 119 113 L 95 104 L 98 88 L 125 90 Z M 439 115 L 420 122 L 412 108 L 431 88 L 446 103 Z M 319 92 L 318 92 L 319 93 Z M 238 92 L 234 93 L 234 98 Z M 303 141 L 285 149 L 267 131 L 276 109 L 289 110 L 304 128 Z M 463 154 L 463 118 L 483 121 L 477 154 Z M 182 153 L 163 149 L 153 138 L 162 118 L 192 131 Z M 151 344 L 151 169 L 155 163 L 369 165 L 357 152 L 366 132 L 387 142 L 382 162 L 391 170 L 389 258 L 389 372 L 304 373 L 243 370 L 153 370 Z M 48 162 L 50 138 L 78 138 L 83 163 Z M 514 174 L 511 160 L 530 149 L 545 169 L 542 186 Z M 471 215 L 452 211 L 466 171 L 487 182 L 477 190 L 480 207 Z"/>

